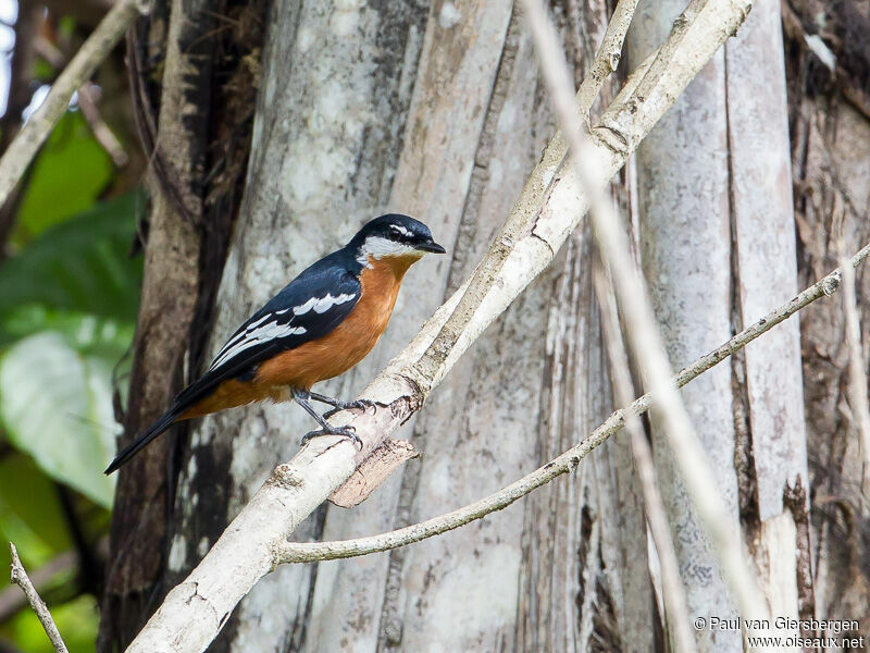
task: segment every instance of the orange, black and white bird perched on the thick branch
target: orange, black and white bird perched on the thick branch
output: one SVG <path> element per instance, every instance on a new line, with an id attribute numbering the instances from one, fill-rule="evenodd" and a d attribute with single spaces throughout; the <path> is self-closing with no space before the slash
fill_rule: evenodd
<path id="1" fill-rule="evenodd" d="M 369 408 L 311 391 L 337 377 L 377 344 L 396 305 L 402 278 L 426 254 L 445 254 L 430 229 L 408 215 L 369 221 L 347 245 L 323 257 L 248 318 L 217 352 L 204 374 L 122 449 L 105 469 L 128 463 L 175 422 L 260 401 L 295 401 L 320 426 L 303 438 L 344 435 L 361 444 L 352 427 L 326 419 L 338 410 Z M 331 405 L 321 415 L 311 402 Z"/>

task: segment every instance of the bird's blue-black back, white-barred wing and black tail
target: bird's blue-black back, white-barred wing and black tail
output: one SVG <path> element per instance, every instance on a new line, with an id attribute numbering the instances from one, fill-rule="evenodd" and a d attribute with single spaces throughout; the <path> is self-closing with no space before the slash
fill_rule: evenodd
<path id="1" fill-rule="evenodd" d="M 276 354 L 327 335 L 353 310 L 361 293 L 362 286 L 344 264 L 340 250 L 304 270 L 238 328 L 202 378 L 182 391 L 172 407 L 124 448 L 105 473 L 127 463 L 222 382 L 252 377 L 258 365 Z"/>

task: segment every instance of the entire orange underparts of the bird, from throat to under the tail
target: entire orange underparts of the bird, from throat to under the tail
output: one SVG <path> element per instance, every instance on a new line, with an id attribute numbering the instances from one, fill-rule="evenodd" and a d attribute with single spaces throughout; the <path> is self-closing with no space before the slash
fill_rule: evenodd
<path id="1" fill-rule="evenodd" d="M 260 364 L 251 381 L 224 381 L 178 420 L 261 399 L 286 399 L 290 387 L 310 390 L 314 383 L 352 368 L 368 356 L 384 333 L 402 276 L 417 260 L 417 256 L 370 258 L 369 267 L 360 272 L 360 299 L 338 326 L 323 337 Z"/>

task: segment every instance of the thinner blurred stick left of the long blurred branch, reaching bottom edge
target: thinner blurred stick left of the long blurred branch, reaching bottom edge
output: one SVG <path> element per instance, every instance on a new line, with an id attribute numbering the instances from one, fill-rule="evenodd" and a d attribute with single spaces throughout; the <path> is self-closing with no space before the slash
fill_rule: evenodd
<path id="1" fill-rule="evenodd" d="M 610 379 L 617 396 L 617 403 L 627 406 L 634 396 L 629 358 L 619 336 L 617 320 L 616 297 L 604 271 L 599 267 L 593 270 L 593 285 L 598 296 L 598 306 L 601 309 L 601 326 L 607 343 L 607 354 L 610 360 Z M 697 651 L 695 636 L 688 628 L 688 606 L 683 581 L 680 579 L 680 563 L 676 550 L 668 527 L 668 516 L 664 503 L 659 492 L 656 466 L 652 463 L 652 449 L 647 442 L 641 418 L 629 410 L 625 415 L 625 430 L 632 444 L 632 455 L 637 478 L 641 481 L 641 492 L 644 495 L 644 508 L 649 523 L 649 532 L 658 552 L 661 567 L 662 597 L 664 600 L 668 624 L 674 633 L 675 650 L 679 653 Z"/>

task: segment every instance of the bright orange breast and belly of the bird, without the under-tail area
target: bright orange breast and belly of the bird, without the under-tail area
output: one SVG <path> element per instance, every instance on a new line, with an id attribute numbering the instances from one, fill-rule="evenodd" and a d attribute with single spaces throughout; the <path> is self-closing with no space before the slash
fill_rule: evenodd
<path id="1" fill-rule="evenodd" d="M 360 299 L 345 321 L 330 334 L 263 362 L 254 383 L 310 389 L 365 358 L 387 328 L 402 276 L 414 260 L 371 259 L 360 273 Z"/>

